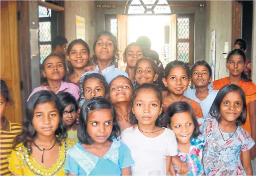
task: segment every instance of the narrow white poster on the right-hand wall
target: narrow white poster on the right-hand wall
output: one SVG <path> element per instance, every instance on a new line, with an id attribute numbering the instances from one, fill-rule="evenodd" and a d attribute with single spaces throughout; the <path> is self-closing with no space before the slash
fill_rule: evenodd
<path id="1" fill-rule="evenodd" d="M 215 59 L 216 59 L 216 30 L 211 32 L 211 68 L 213 81 L 215 80 Z"/>

